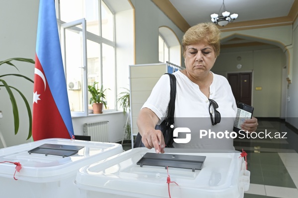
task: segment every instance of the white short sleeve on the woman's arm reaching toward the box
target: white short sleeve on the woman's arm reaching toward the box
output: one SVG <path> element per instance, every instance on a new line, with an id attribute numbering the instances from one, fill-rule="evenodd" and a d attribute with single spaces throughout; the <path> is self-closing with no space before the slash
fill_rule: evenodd
<path id="1" fill-rule="evenodd" d="M 142 108 L 149 108 L 159 118 L 160 124 L 167 114 L 170 101 L 170 78 L 167 74 L 162 75 L 153 87 L 151 94 Z"/>

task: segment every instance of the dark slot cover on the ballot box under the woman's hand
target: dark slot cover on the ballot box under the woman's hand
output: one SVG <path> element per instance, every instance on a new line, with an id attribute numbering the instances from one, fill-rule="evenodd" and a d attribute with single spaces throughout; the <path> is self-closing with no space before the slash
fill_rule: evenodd
<path id="1" fill-rule="evenodd" d="M 206 156 L 147 152 L 137 164 L 202 170 Z"/>

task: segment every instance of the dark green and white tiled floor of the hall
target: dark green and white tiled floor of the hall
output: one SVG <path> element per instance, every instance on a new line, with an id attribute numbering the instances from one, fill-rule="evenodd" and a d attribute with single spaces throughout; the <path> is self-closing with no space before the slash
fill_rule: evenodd
<path id="1" fill-rule="evenodd" d="M 258 121 L 256 132 L 272 139 L 235 139 L 234 147 L 247 154 L 250 187 L 244 198 L 298 198 L 298 134 L 280 121 Z M 284 139 L 274 138 L 276 134 Z M 278 136 L 276 136 L 278 137 Z M 124 150 L 131 144 L 123 145 Z"/>

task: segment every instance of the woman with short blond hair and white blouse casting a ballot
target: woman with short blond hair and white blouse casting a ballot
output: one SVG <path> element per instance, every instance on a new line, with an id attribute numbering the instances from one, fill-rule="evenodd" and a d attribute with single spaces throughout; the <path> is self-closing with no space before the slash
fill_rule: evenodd
<path id="1" fill-rule="evenodd" d="M 220 30 L 213 23 L 195 25 L 183 36 L 182 48 L 186 69 L 174 73 L 177 79 L 175 128 L 190 128 L 191 141 L 188 144 L 174 143 L 174 148 L 233 149 L 231 138 L 200 136 L 200 130 L 203 129 L 204 133 L 232 132 L 237 111 L 228 81 L 210 71 L 220 53 Z M 164 152 L 165 145 L 161 131 L 154 127 L 167 115 L 169 99 L 169 77 L 163 75 L 143 105 L 137 120 L 143 144 L 147 148 L 155 148 L 157 153 Z M 222 118 L 220 123 L 216 120 L 219 114 Z M 253 117 L 241 127 L 252 132 L 257 125 L 257 119 Z"/>

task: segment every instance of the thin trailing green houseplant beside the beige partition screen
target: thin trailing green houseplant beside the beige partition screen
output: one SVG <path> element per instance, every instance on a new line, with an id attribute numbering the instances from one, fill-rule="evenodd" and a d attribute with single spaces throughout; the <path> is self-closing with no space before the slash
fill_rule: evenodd
<path id="1" fill-rule="evenodd" d="M 127 88 L 123 88 L 123 89 L 125 89 L 125 91 L 119 94 L 119 98 L 117 99 L 117 101 L 119 102 L 119 105 L 123 108 L 123 113 L 126 114 L 127 109 L 130 111 L 130 92 L 129 92 L 129 89 Z M 128 123 L 128 118 L 129 118 L 129 114 L 127 115 L 127 120 L 123 127 L 125 132 L 124 132 L 121 144 L 123 144 L 125 134 L 126 134 L 127 140 L 131 139 L 131 125 Z"/>

